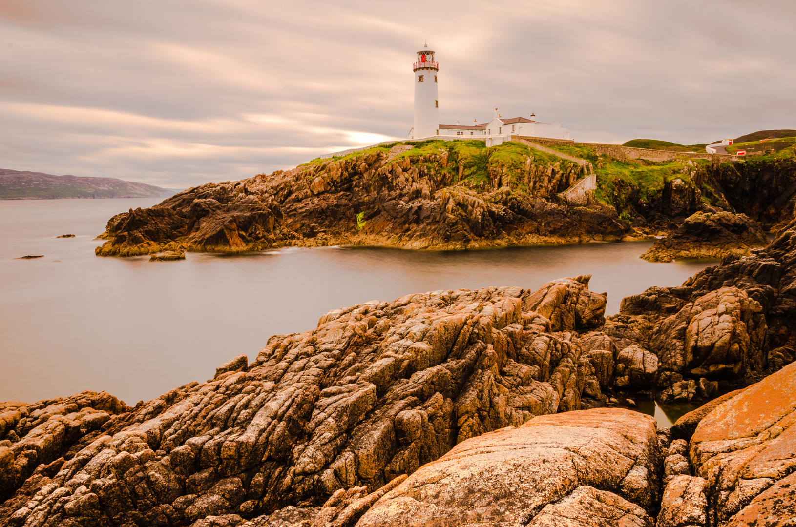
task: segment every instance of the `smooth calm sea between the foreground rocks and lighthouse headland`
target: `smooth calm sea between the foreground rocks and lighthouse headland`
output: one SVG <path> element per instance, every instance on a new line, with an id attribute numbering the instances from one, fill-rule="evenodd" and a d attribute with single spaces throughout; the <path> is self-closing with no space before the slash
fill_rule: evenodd
<path id="1" fill-rule="evenodd" d="M 0 401 L 93 389 L 135 405 L 213 378 L 236 355 L 251 361 L 269 335 L 310 330 L 331 309 L 408 293 L 535 289 L 591 274 L 591 290 L 608 293 L 613 314 L 623 296 L 680 285 L 715 263 L 638 258 L 652 242 L 443 252 L 287 248 L 189 253 L 179 262 L 94 255 L 112 215 L 159 201 L 0 201 Z M 44 258 L 14 259 L 26 254 Z"/>

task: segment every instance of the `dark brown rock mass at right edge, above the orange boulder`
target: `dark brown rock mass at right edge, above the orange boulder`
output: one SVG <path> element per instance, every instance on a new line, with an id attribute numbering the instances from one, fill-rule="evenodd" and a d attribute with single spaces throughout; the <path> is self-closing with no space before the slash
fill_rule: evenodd
<path id="1" fill-rule="evenodd" d="M 794 239 L 791 222 L 763 250 L 730 255 L 680 287 L 627 296 L 600 331 L 619 349 L 636 345 L 657 357 L 665 401 L 757 382 L 796 355 Z"/>

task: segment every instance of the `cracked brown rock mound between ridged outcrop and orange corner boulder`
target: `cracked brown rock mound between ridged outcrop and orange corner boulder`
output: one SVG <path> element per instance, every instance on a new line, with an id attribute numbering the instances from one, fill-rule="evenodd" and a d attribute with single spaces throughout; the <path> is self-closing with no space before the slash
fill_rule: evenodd
<path id="1" fill-rule="evenodd" d="M 691 280 L 626 297 L 603 327 L 618 345 L 657 356 L 665 401 L 708 398 L 718 382 L 756 380 L 770 368 L 763 307 L 736 287 L 696 293 Z"/>

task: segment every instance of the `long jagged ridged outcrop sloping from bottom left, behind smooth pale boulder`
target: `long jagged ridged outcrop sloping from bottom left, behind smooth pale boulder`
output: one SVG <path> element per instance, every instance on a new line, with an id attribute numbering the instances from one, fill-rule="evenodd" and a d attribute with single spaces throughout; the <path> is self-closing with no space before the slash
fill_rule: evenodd
<path id="1" fill-rule="evenodd" d="M 224 363 L 209 382 L 118 415 L 95 402 L 50 417 L 14 438 L 13 463 L 0 452 L 3 470 L 27 459 L 7 480 L 15 494 L 0 521 L 186 525 L 213 517 L 216 525 L 287 506 L 317 510 L 362 487 L 365 494 L 349 496 L 353 510 L 335 513 L 355 517 L 371 503 L 357 500 L 375 501 L 373 492 L 455 444 L 579 409 L 583 393 L 601 396 L 575 332 L 603 320 L 606 298 L 587 283 L 437 291 L 336 309 L 312 331 L 271 337 L 251 364 L 245 355 Z M 10 429 L 14 419 L 0 422 Z M 80 448 L 64 455 L 64 442 L 32 446 L 57 427 L 83 434 L 71 439 Z M 645 484 L 642 476 L 627 485 Z"/>

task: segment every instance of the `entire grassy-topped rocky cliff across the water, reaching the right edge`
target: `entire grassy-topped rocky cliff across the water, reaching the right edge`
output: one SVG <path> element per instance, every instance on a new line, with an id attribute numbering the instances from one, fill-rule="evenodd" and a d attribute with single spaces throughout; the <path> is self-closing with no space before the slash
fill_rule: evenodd
<path id="1" fill-rule="evenodd" d="M 706 207 L 746 213 L 767 228 L 793 218 L 792 161 L 655 163 L 553 148 L 560 157 L 513 141 L 490 148 L 483 141 L 396 143 L 205 184 L 114 216 L 96 254 L 618 240 L 673 231 Z M 572 200 L 566 191 L 587 175 L 596 188 Z"/>

